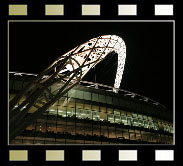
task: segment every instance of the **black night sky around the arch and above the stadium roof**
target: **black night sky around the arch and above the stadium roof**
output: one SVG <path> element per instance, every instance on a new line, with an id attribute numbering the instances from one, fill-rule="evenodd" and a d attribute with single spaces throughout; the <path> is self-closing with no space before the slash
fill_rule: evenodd
<path id="1" fill-rule="evenodd" d="M 118 35 L 127 48 L 120 88 L 173 108 L 172 22 L 18 22 L 10 23 L 9 30 L 9 70 L 36 74 L 91 38 Z M 116 54 L 108 56 L 84 79 L 112 86 L 116 61 Z"/>

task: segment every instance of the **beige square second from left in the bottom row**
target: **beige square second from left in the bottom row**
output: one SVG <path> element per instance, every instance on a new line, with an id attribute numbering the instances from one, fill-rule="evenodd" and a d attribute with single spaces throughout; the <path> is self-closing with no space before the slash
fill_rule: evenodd
<path id="1" fill-rule="evenodd" d="M 64 150 L 46 150 L 46 161 L 64 161 Z"/>

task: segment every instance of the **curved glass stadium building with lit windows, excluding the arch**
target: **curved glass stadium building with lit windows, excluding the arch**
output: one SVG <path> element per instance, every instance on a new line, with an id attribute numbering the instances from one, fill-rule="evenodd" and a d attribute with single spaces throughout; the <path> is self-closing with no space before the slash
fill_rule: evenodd
<path id="1" fill-rule="evenodd" d="M 9 100 L 35 76 L 10 72 Z M 173 112 L 163 105 L 132 92 L 114 93 L 113 87 L 81 81 L 9 143 L 173 144 L 173 133 Z"/>

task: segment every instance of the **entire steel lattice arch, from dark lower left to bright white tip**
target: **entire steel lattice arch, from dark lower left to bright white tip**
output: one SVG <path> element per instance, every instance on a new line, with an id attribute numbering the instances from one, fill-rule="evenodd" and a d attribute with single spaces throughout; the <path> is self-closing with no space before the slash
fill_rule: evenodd
<path id="1" fill-rule="evenodd" d="M 78 84 L 92 67 L 113 51 L 118 54 L 113 89 L 117 92 L 125 65 L 125 43 L 116 35 L 93 38 L 60 56 L 10 101 L 10 140 L 41 116 L 61 96 Z M 56 88 L 53 90 L 51 87 Z M 29 112 L 31 114 L 27 115 Z"/>

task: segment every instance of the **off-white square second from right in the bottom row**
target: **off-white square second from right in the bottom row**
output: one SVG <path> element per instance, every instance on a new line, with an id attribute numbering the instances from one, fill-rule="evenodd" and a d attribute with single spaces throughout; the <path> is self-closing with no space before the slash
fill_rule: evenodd
<path id="1" fill-rule="evenodd" d="M 119 161 L 137 161 L 137 150 L 119 150 Z"/>

